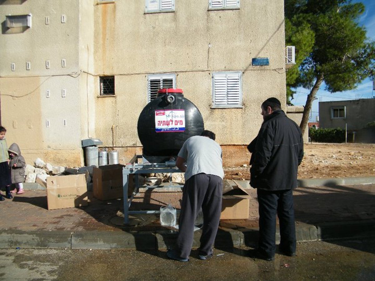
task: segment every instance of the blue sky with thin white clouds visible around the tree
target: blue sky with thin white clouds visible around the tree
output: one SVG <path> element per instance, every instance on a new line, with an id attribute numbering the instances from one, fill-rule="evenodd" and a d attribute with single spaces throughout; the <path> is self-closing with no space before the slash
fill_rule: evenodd
<path id="1" fill-rule="evenodd" d="M 367 31 L 367 37 L 375 41 L 375 1 L 374 0 L 354 0 L 353 2 L 362 2 L 365 4 L 366 10 L 359 19 L 359 24 L 364 26 Z M 317 99 L 312 104 L 309 121 L 314 122 L 319 115 L 319 102 L 329 102 L 334 100 L 355 100 L 355 99 L 369 99 L 375 96 L 375 91 L 372 90 L 373 83 L 370 78 L 365 79 L 354 90 L 330 93 L 325 91 L 326 85 L 322 84 L 317 93 Z M 309 89 L 296 88 L 294 99 L 291 102 L 294 105 L 305 105 Z"/>

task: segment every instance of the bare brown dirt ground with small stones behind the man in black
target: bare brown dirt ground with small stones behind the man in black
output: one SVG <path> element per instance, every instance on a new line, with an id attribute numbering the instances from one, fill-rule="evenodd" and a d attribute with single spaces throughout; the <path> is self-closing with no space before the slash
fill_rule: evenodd
<path id="1" fill-rule="evenodd" d="M 304 150 L 300 179 L 375 176 L 374 143 L 305 143 Z M 227 179 L 250 179 L 248 165 L 224 167 L 224 172 Z"/>

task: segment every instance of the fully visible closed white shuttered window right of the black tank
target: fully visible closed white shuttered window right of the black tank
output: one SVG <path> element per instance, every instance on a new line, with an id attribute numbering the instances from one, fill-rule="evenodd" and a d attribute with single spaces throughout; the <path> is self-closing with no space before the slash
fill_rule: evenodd
<path id="1" fill-rule="evenodd" d="M 216 72 L 212 76 L 212 103 L 217 108 L 242 107 L 242 73 Z"/>

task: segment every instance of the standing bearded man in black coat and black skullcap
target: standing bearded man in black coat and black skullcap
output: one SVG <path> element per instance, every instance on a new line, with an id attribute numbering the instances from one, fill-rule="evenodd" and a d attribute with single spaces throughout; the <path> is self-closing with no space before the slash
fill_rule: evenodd
<path id="1" fill-rule="evenodd" d="M 287 256 L 296 254 L 293 188 L 297 187 L 297 170 L 303 158 L 303 139 L 300 128 L 281 110 L 278 99 L 265 100 L 261 109 L 264 121 L 250 169 L 250 185 L 257 188 L 260 237 L 258 249 L 250 256 L 273 260 L 276 214 L 280 223 L 279 251 Z"/>

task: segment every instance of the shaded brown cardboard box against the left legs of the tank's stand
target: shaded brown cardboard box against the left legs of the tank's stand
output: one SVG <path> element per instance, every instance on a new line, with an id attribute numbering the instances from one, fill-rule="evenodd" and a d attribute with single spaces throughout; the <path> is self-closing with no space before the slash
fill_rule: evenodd
<path id="1" fill-rule="evenodd" d="M 93 194 L 99 200 L 123 198 L 122 169 L 124 165 L 104 165 L 93 169 Z M 129 176 L 128 195 L 132 190 L 132 177 Z"/>

